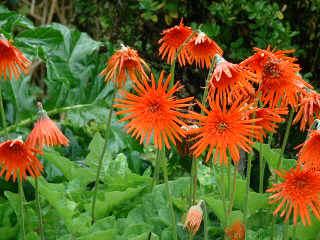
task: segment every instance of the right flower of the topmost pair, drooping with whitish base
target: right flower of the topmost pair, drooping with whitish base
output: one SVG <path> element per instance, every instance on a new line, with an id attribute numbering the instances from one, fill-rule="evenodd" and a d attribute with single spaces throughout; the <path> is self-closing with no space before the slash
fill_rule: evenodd
<path id="1" fill-rule="evenodd" d="M 215 54 L 222 56 L 223 51 L 218 44 L 205 33 L 199 32 L 188 42 L 186 49 L 190 64 L 196 62 L 196 66 L 210 68 L 211 60 Z"/>

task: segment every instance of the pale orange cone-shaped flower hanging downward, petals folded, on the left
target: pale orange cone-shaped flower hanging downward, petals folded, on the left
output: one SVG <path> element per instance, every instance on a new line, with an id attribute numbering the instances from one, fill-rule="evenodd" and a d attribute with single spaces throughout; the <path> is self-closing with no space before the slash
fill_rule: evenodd
<path id="1" fill-rule="evenodd" d="M 40 147 L 40 149 L 43 148 L 44 145 L 50 147 L 54 145 L 68 146 L 69 139 L 63 135 L 57 125 L 48 117 L 41 103 L 38 103 L 38 107 L 39 120 L 29 134 L 26 144 L 31 147 Z"/>

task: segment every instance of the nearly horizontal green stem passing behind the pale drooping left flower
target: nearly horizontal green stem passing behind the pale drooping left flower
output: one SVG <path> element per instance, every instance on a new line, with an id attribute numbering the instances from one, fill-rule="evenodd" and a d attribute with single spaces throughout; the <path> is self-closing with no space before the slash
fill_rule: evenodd
<path id="1" fill-rule="evenodd" d="M 0 100 L 1 101 L 1 100 Z M 0 103 L 0 105 L 2 105 Z M 57 113 L 62 113 L 62 112 L 68 112 L 68 111 L 71 111 L 71 110 L 76 110 L 76 109 L 82 109 L 82 108 L 87 108 L 87 107 L 92 107 L 94 106 L 95 104 L 79 104 L 79 105 L 73 105 L 73 106 L 68 106 L 68 107 L 62 107 L 62 108 L 56 108 L 56 109 L 53 109 L 51 111 L 48 111 L 47 114 L 48 116 L 51 116 L 51 115 L 54 115 L 54 114 L 57 114 Z M 1 106 L 0 106 L 1 108 Z M 2 115 L 2 114 L 1 114 Z M 31 124 L 32 122 L 34 122 L 35 120 L 37 119 L 37 116 L 34 116 L 32 118 L 27 118 L 25 120 L 22 120 L 21 122 L 17 123 L 17 124 L 14 124 L 14 125 L 11 125 L 9 126 L 8 128 L 5 128 L 5 130 L 2 130 L 0 131 L 0 135 L 3 135 L 4 133 L 6 132 L 10 132 L 10 131 L 13 131 L 15 130 L 17 127 L 22 127 L 22 126 L 25 126 L 25 125 L 28 125 L 28 124 Z"/>

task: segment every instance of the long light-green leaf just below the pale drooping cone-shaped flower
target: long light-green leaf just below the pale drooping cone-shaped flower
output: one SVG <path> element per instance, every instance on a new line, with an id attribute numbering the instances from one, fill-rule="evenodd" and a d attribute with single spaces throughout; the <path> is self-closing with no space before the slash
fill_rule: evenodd
<path id="1" fill-rule="evenodd" d="M 92 169 L 80 167 L 53 150 L 45 150 L 44 159 L 54 164 L 68 180 L 80 177 L 85 185 L 95 180 L 95 172 Z"/>

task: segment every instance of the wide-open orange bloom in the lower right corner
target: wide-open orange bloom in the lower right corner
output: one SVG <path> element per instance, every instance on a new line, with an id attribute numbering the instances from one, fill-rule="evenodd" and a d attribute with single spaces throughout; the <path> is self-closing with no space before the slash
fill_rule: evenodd
<path id="1" fill-rule="evenodd" d="M 284 173 L 276 172 L 285 181 L 273 184 L 273 187 L 267 190 L 267 192 L 276 192 L 269 197 L 273 199 L 270 204 L 280 201 L 273 215 L 283 208 L 280 216 L 286 215 L 285 221 L 288 221 L 293 211 L 295 226 L 298 216 L 301 217 L 303 225 L 306 225 L 306 220 L 311 225 L 308 209 L 310 207 L 320 219 L 320 175 L 315 171 L 302 170 L 300 167 L 289 171 L 283 170 Z"/>

